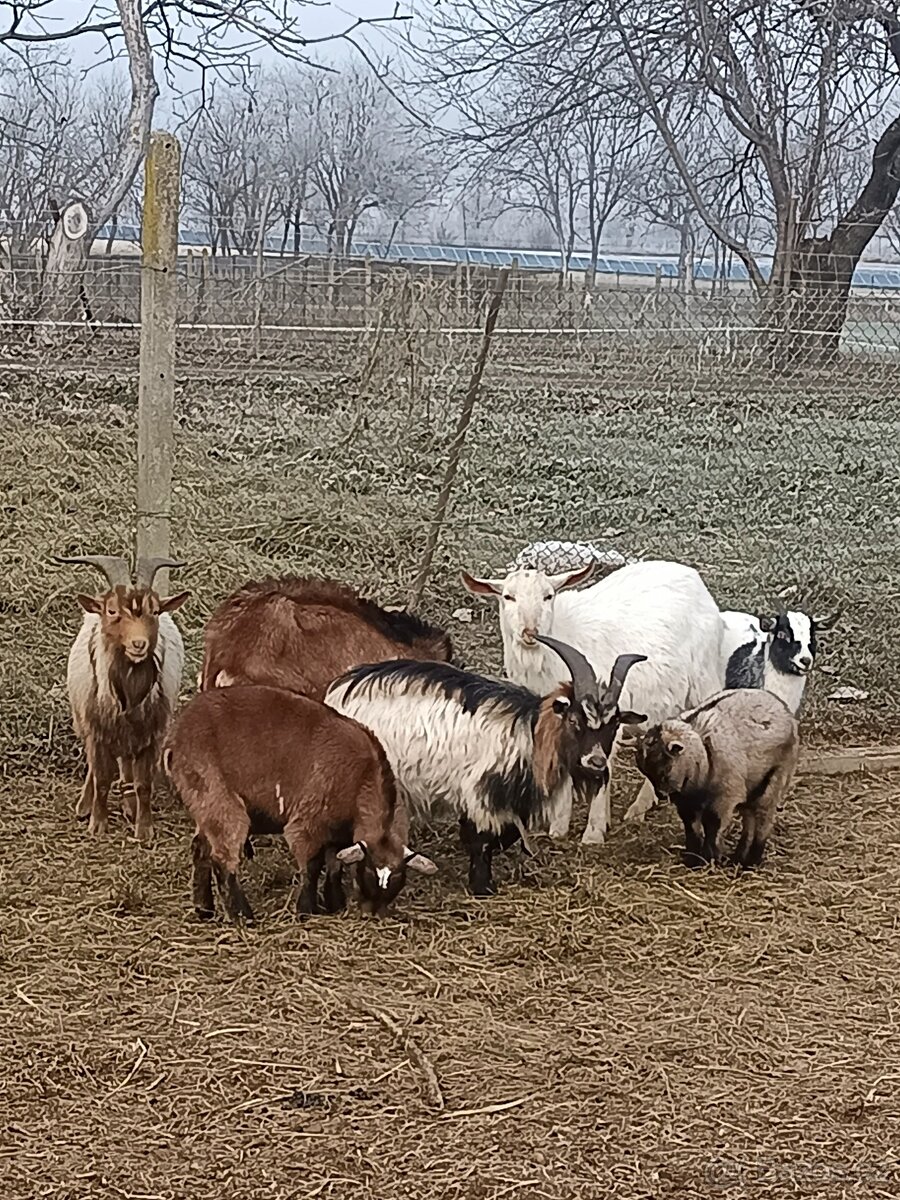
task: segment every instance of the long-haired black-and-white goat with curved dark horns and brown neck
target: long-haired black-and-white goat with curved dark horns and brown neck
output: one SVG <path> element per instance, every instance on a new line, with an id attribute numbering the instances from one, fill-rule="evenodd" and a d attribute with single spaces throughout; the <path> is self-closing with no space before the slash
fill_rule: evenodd
<path id="1" fill-rule="evenodd" d="M 618 707 L 625 677 L 643 655 L 620 655 L 601 695 L 582 654 L 552 637 L 541 641 L 571 673 L 571 683 L 544 697 L 458 667 L 412 661 L 356 667 L 325 695 L 326 704 L 374 732 L 412 812 L 449 810 L 460 818 L 469 889 L 478 896 L 494 892 L 494 850 L 508 848 L 534 822 L 550 822 L 552 835 L 568 829 L 574 794 L 608 779 L 619 724 L 644 720 Z"/>

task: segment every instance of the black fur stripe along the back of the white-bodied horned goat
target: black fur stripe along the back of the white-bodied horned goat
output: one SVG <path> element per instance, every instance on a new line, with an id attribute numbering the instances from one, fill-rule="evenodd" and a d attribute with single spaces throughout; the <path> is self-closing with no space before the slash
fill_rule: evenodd
<path id="1" fill-rule="evenodd" d="M 541 706 L 541 697 L 515 683 L 503 683 L 485 676 L 463 671 L 449 662 L 421 662 L 412 659 L 395 659 L 388 662 L 367 662 L 353 667 L 336 679 L 331 688 L 346 685 L 349 697 L 366 684 L 384 682 L 406 684 L 407 691 L 420 685 L 420 695 L 439 691 L 446 700 L 456 701 L 464 713 L 476 713 L 486 706 L 494 706 L 505 715 L 534 726 Z"/>

